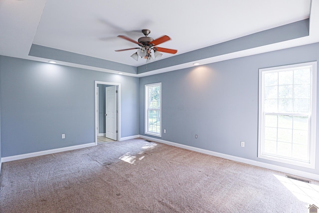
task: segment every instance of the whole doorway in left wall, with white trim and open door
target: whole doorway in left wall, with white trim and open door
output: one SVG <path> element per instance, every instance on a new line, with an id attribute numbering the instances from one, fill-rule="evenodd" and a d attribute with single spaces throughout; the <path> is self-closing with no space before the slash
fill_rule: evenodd
<path id="1" fill-rule="evenodd" d="M 95 145 L 121 139 L 121 84 L 95 81 Z"/>

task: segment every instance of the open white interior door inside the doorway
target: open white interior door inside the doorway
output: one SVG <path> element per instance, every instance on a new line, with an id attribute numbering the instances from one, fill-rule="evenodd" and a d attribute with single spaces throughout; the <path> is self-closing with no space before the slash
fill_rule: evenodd
<path id="1" fill-rule="evenodd" d="M 117 141 L 117 86 L 105 88 L 105 137 Z"/>

